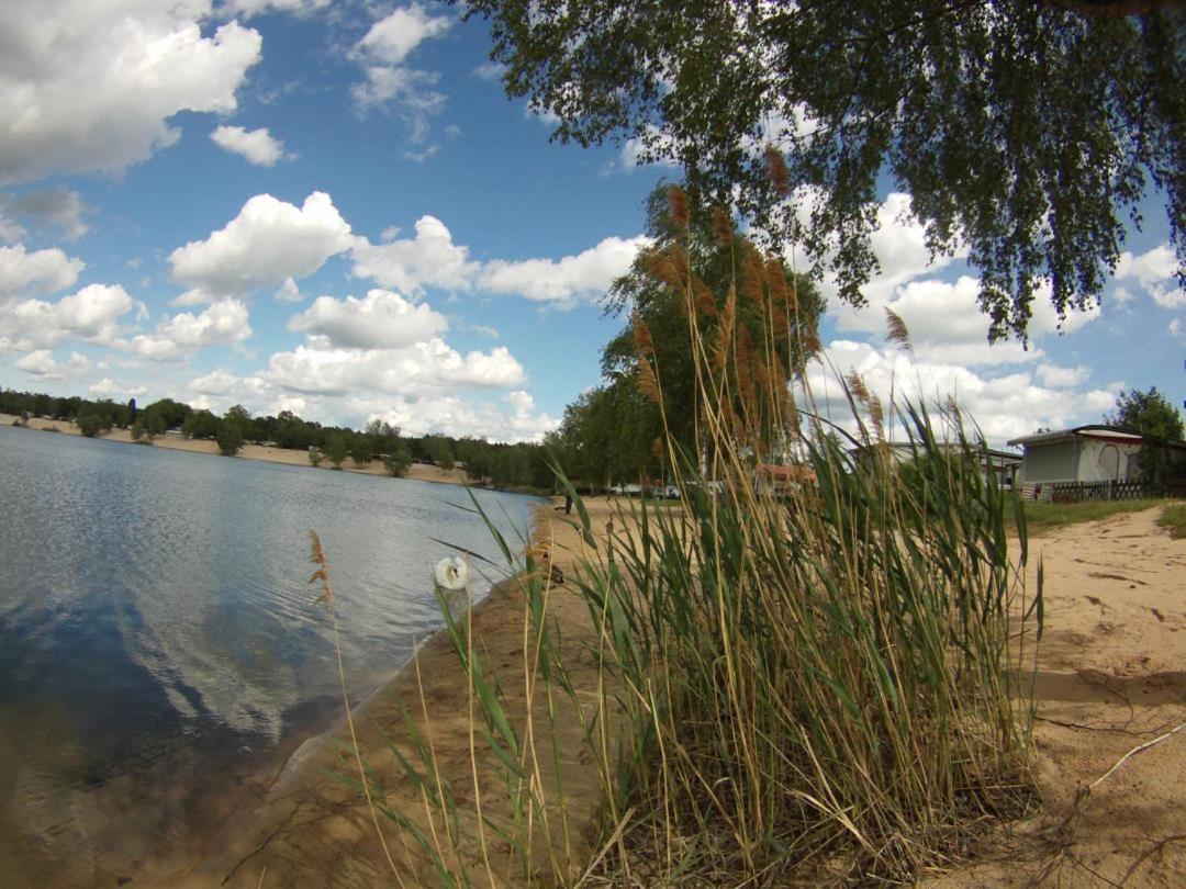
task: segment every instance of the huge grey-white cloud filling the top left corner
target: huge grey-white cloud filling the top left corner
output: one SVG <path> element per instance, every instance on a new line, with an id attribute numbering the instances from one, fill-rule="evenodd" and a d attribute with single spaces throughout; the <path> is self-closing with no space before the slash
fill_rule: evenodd
<path id="1" fill-rule="evenodd" d="M 260 59 L 236 21 L 203 37 L 203 0 L 6 0 L 0 77 L 0 183 L 117 173 L 173 145 L 179 111 L 235 110 Z"/>

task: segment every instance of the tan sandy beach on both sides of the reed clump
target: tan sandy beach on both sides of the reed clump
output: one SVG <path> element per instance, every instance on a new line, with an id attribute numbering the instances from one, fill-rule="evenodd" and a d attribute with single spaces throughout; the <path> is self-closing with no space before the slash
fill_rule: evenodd
<path id="1" fill-rule="evenodd" d="M 594 527 L 612 518 L 606 501 L 589 506 Z M 974 863 L 932 880 L 932 885 L 1161 887 L 1186 874 L 1181 829 L 1186 791 L 1180 781 L 1186 774 L 1186 731 L 1130 756 L 1090 793 L 1082 789 L 1133 748 L 1186 719 L 1186 637 L 1181 634 L 1186 628 L 1181 583 L 1186 541 L 1172 541 L 1156 527 L 1156 514 L 1153 510 L 1071 526 L 1033 542 L 1042 555 L 1047 584 L 1035 728 L 1042 804 L 1031 817 L 987 840 Z M 561 518 L 553 519 L 553 533 L 557 564 L 570 568 L 573 555 L 580 551 L 579 537 Z M 551 608 L 573 653 L 573 680 L 592 692 L 595 671 L 578 653 L 593 635 L 587 610 L 563 587 L 556 589 Z M 523 608 L 514 582 L 474 609 L 473 626 L 490 663 L 511 677 L 516 667 L 521 672 Z M 436 637 L 421 650 L 419 666 L 442 766 L 454 786 L 472 786 L 467 701 L 455 655 Z M 508 683 L 512 708 L 522 708 L 521 685 Z M 400 698 L 409 706 L 420 699 L 412 671 L 364 705 L 356 722 L 374 721 L 400 737 L 403 727 L 394 703 Z M 422 727 L 422 719 L 417 724 Z M 420 806 L 415 788 L 397 776 L 394 757 L 374 730 L 365 733 L 362 746 L 368 766 L 384 775 L 389 799 L 415 812 Z M 572 741 L 562 743 L 562 749 L 579 750 L 579 735 Z M 310 741 L 267 788 L 260 807 L 238 813 L 221 844 L 216 843 L 217 852 L 186 874 L 184 884 L 255 887 L 261 876 L 266 885 L 311 880 L 342 887 L 389 883 L 389 865 L 365 806 L 324 776 L 334 767 L 340 770 L 343 763 L 325 738 Z M 562 768 L 569 788 L 569 827 L 575 825 L 573 832 L 588 838 L 597 775 L 579 757 L 566 760 Z M 483 791 L 487 806 L 497 806 L 492 779 Z M 463 793 L 459 802 L 466 801 L 472 798 Z M 395 832 L 388 829 L 387 836 L 395 846 Z M 402 869 L 403 849 L 391 851 Z M 572 851 L 580 862 L 587 846 Z M 412 857 L 416 861 L 415 853 Z"/>

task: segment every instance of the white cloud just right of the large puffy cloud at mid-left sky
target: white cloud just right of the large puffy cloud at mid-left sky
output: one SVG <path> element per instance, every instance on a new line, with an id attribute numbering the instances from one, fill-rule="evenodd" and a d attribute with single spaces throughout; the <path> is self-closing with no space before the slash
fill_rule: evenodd
<path id="1" fill-rule="evenodd" d="M 427 287 L 467 290 L 479 264 L 466 247 L 453 243 L 445 223 L 434 216 L 416 220 L 414 238 L 383 244 L 358 243 L 351 251 L 355 277 L 368 277 L 383 287 L 419 294 Z"/>

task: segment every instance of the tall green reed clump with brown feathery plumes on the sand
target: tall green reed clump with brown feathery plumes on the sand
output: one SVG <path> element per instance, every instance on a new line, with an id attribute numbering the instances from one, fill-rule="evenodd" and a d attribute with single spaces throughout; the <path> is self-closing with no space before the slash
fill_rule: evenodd
<path id="1" fill-rule="evenodd" d="M 674 264 L 686 301 L 697 453 L 659 442 L 682 509 L 632 503 L 606 533 L 557 472 L 582 538 L 568 586 L 594 627 L 580 657 L 597 682 L 572 680 L 536 541 L 515 581 L 511 674 L 484 661 L 471 612 L 442 600 L 471 692 L 472 774 L 440 768 L 426 706 L 400 746 L 422 810 L 372 795 L 445 885 L 866 883 L 949 866 L 1031 801 L 1042 600 L 1040 568 L 1025 589 L 1025 516 L 982 472 L 983 443 L 955 405 L 882 405 L 852 376 L 846 421 L 821 415 L 808 385 L 818 339 L 782 263 L 745 245 L 733 287 L 706 296 L 682 250 L 655 258 Z M 757 331 L 737 321 L 738 299 L 757 307 Z M 639 385 L 662 410 L 635 324 Z M 891 435 L 910 446 L 908 471 Z M 755 485 L 772 462 L 798 465 L 797 481 Z M 576 759 L 598 775 L 592 842 L 568 817 Z"/>

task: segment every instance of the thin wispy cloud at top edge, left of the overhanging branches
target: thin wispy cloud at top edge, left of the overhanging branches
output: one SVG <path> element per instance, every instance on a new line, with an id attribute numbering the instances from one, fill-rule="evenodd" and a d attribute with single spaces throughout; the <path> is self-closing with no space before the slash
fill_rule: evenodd
<path id="1" fill-rule="evenodd" d="M 350 52 L 366 75 L 352 88 L 356 105 L 363 111 L 382 107 L 397 113 L 409 127 L 413 145 L 427 141 L 429 119 L 444 108 L 445 95 L 436 90 L 439 76 L 410 68 L 408 56 L 425 40 L 445 34 L 454 21 L 412 4 L 371 25 Z"/>

